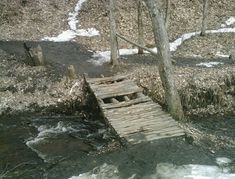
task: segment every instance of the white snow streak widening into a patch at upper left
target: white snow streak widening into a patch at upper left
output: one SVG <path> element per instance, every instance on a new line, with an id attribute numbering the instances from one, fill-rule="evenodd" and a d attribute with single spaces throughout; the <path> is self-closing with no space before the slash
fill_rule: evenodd
<path id="1" fill-rule="evenodd" d="M 55 37 L 44 37 L 43 41 L 53 41 L 53 42 L 66 42 L 73 40 L 76 36 L 86 36 L 86 37 L 93 37 L 100 35 L 99 31 L 95 28 L 88 28 L 88 29 L 77 29 L 77 25 L 79 23 L 78 14 L 81 10 L 82 4 L 87 0 L 78 0 L 74 11 L 69 13 L 68 17 L 68 25 L 69 29 L 63 31 L 61 34 Z"/>

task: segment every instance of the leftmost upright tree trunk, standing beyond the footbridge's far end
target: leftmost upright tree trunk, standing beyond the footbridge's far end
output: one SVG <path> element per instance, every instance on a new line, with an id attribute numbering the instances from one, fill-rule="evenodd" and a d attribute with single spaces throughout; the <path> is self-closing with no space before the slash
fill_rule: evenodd
<path id="1" fill-rule="evenodd" d="M 109 8 L 110 8 L 110 46 L 111 46 L 111 64 L 114 66 L 119 65 L 118 62 L 118 43 L 117 43 L 117 36 L 116 36 L 116 22 L 115 22 L 115 0 L 109 1 Z"/>

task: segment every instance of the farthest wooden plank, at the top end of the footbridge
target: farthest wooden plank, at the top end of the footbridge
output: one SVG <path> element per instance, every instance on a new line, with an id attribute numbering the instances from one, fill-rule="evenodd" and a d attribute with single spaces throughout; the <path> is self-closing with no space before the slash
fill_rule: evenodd
<path id="1" fill-rule="evenodd" d="M 104 78 L 86 78 L 86 81 L 90 84 L 94 84 L 94 83 L 101 84 L 101 83 L 125 80 L 127 78 L 128 78 L 128 75 L 116 75 L 116 76 L 104 77 Z"/>

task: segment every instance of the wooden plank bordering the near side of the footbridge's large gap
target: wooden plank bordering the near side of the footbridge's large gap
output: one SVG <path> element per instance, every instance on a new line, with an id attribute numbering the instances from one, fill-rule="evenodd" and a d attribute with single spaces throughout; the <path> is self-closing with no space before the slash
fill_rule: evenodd
<path id="1" fill-rule="evenodd" d="M 102 104 L 102 109 L 113 109 L 113 108 L 122 108 L 122 107 L 128 107 L 134 104 L 138 104 L 138 103 L 144 103 L 144 102 L 148 102 L 151 101 L 151 99 L 147 96 L 143 97 L 143 98 L 136 98 L 136 99 L 132 99 L 129 101 L 123 101 L 123 102 L 119 102 L 117 104 Z"/>

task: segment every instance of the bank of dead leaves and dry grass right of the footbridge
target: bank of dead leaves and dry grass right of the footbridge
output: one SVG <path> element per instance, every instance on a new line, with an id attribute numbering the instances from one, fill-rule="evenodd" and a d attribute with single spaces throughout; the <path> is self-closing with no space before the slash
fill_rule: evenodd
<path id="1" fill-rule="evenodd" d="M 130 72 L 127 72 L 130 73 Z M 164 90 L 157 66 L 131 70 L 131 78 L 153 100 L 165 106 Z M 235 67 L 175 67 L 175 79 L 187 116 L 225 115 L 235 109 Z"/>

